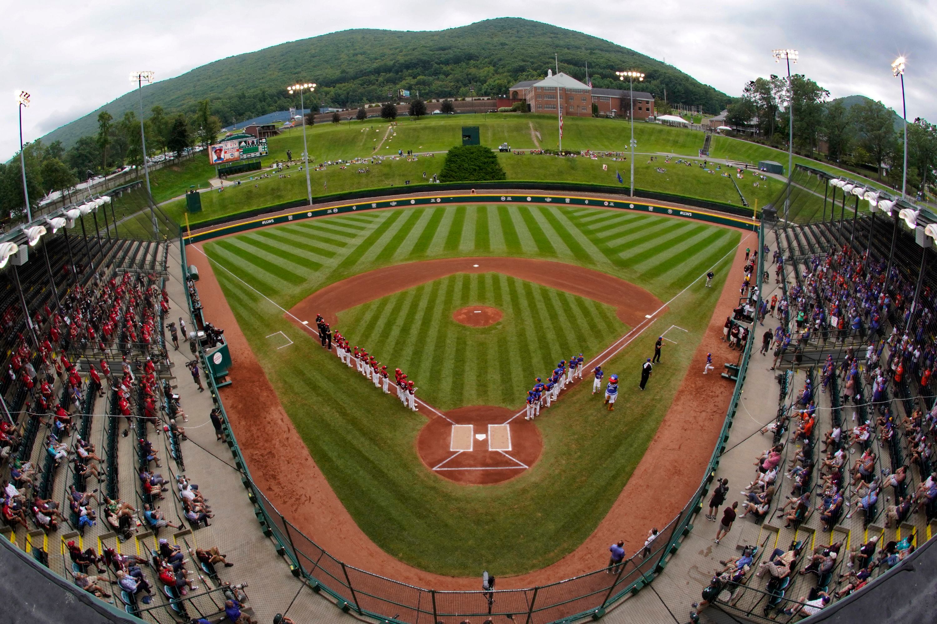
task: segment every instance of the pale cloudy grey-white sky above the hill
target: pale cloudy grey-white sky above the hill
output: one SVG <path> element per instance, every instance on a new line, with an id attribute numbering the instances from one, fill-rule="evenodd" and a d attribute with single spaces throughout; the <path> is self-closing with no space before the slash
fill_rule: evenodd
<path id="1" fill-rule="evenodd" d="M 225 53 L 233 55 L 348 28 L 437 30 L 497 17 L 599 36 L 666 60 L 731 95 L 741 94 L 753 77 L 781 72 L 772 48 L 794 48 L 801 56 L 796 70 L 834 97 L 865 94 L 899 113 L 900 85 L 889 65 L 905 54 L 908 118 L 937 122 L 937 0 L 617 0 L 583 7 L 568 0 L 396 0 L 314 8 L 256 0 L 5 3 L 0 84 L 9 99 L 0 109 L 0 158 L 19 150 L 13 100 L 19 90 L 33 97 L 23 118 L 23 140 L 30 141 L 126 93 L 132 70 L 152 69 L 165 80 L 215 61 L 216 30 L 232 34 L 225 37 Z M 235 34 L 242 24 L 243 35 Z"/>

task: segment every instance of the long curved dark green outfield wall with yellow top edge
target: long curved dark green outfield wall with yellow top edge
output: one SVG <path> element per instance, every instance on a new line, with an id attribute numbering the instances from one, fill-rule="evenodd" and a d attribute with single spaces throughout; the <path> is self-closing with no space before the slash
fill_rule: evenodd
<path id="1" fill-rule="evenodd" d="M 683 217 L 704 221 L 706 223 L 729 225 L 745 230 L 757 230 L 758 222 L 742 217 L 728 216 L 707 210 L 683 210 L 673 206 L 662 206 L 651 203 L 635 203 L 633 201 L 617 201 L 607 197 L 566 196 L 566 195 L 478 195 L 478 194 L 446 194 L 446 195 L 420 195 L 401 197 L 399 199 L 384 199 L 374 202 L 354 202 L 339 204 L 328 208 L 315 208 L 311 210 L 297 210 L 287 214 L 279 214 L 266 219 L 253 219 L 231 225 L 217 225 L 210 229 L 201 230 L 194 234 L 183 235 L 186 244 L 201 242 L 202 240 L 216 239 L 220 236 L 245 232 L 267 225 L 288 224 L 294 221 L 304 221 L 330 214 L 341 214 L 362 210 L 381 210 L 386 208 L 407 208 L 410 206 L 436 206 L 439 204 L 540 204 L 559 206 L 582 206 L 588 208 L 608 208 L 617 210 L 636 210 L 639 212 L 654 212 L 668 216 Z"/>

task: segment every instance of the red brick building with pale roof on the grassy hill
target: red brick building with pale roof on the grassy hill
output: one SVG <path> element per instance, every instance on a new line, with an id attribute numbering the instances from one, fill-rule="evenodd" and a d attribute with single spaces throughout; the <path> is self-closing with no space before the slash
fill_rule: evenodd
<path id="1" fill-rule="evenodd" d="M 644 91 L 633 94 L 634 118 L 653 117 L 654 96 Z M 518 101 L 527 102 L 530 112 L 557 114 L 557 107 L 562 106 L 564 115 L 575 117 L 591 117 L 593 104 L 599 115 L 607 117 L 628 117 L 632 110 L 627 89 L 593 89 L 562 72 L 554 76 L 553 71 L 548 71 L 543 80 L 524 80 L 513 85 L 507 98 L 498 98 L 498 106 L 511 106 Z"/>

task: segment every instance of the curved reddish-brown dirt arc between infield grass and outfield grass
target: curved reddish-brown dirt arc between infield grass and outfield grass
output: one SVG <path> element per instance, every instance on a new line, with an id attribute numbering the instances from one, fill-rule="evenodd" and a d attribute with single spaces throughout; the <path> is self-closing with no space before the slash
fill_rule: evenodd
<path id="1" fill-rule="evenodd" d="M 503 273 L 525 282 L 594 299 L 614 306 L 618 319 L 629 327 L 639 325 L 645 320 L 645 314 L 662 306 L 661 300 L 644 288 L 591 268 L 549 260 L 481 257 L 424 260 L 376 268 L 316 291 L 297 303 L 290 313 L 310 323 L 316 314 L 321 314 L 326 323 L 335 326 L 338 312 L 453 273 Z"/>

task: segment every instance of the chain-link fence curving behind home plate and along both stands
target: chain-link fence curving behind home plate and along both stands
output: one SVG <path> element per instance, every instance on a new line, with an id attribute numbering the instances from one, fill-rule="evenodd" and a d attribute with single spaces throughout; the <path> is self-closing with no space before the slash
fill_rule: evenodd
<path id="1" fill-rule="evenodd" d="M 758 250 L 765 248 L 764 227 L 758 228 Z M 180 254 L 184 277 L 188 279 L 186 240 L 180 235 Z M 758 254 L 756 275 L 760 281 L 764 271 L 764 254 Z M 192 301 L 186 288 L 190 319 L 195 325 Z M 760 296 L 755 302 L 761 303 Z M 377 573 L 368 572 L 335 559 L 323 550 L 290 519 L 276 509 L 250 476 L 245 458 L 234 438 L 228 415 L 218 394 L 215 379 L 206 375 L 216 407 L 223 416 L 223 428 L 242 474 L 247 496 L 255 506 L 255 515 L 263 533 L 273 539 L 276 552 L 287 559 L 291 573 L 302 579 L 308 588 L 326 594 L 343 611 L 382 622 L 407 624 L 457 624 L 467 617 L 505 617 L 514 624 L 546 624 L 570 622 L 584 617 L 602 617 L 605 611 L 636 594 L 662 572 L 669 558 L 677 552 L 682 538 L 692 530 L 692 521 L 703 509 L 709 485 L 719 466 L 720 457 L 729 440 L 729 429 L 736 415 L 742 385 L 749 366 L 753 341 L 747 341 L 738 363 L 737 380 L 729 408 L 725 414 L 719 440 L 713 449 L 700 485 L 680 513 L 659 531 L 657 537 L 631 559 L 612 568 L 602 568 L 556 583 L 523 589 L 485 591 L 442 591 L 418 588 Z M 212 370 L 200 348 L 204 370 Z M 481 585 L 481 583 L 480 583 Z"/>

